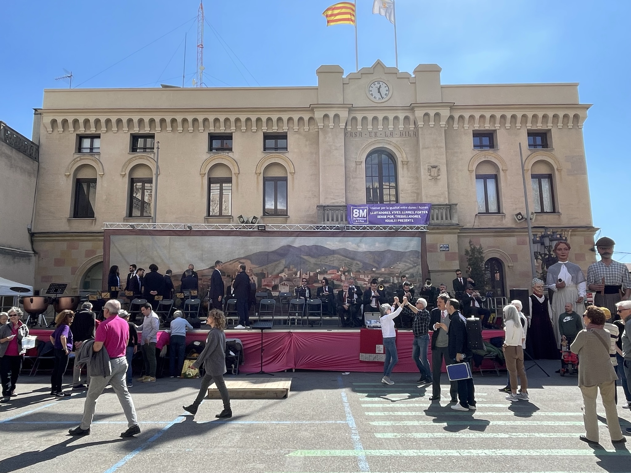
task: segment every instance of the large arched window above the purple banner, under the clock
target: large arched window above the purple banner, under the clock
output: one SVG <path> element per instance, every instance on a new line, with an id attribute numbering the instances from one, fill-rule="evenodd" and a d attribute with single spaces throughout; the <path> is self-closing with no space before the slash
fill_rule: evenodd
<path id="1" fill-rule="evenodd" d="M 390 153 L 375 149 L 366 157 L 366 203 L 396 204 L 396 165 Z"/>

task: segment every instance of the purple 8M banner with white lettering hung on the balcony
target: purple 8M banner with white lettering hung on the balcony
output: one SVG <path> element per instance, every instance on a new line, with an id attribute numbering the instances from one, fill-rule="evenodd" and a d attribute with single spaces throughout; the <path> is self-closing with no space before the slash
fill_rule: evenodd
<path id="1" fill-rule="evenodd" d="M 432 204 L 348 204 L 350 225 L 427 225 Z"/>

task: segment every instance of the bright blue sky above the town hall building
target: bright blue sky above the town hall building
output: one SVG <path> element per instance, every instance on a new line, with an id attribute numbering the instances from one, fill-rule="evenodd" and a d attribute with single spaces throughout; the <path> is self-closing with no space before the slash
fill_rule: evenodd
<path id="1" fill-rule="evenodd" d="M 204 25 L 206 85 L 315 85 L 321 64 L 354 71 L 353 27 L 327 28 L 321 15 L 333 3 L 207 0 L 206 18 L 229 48 Z M 371 14 L 372 0 L 357 3 L 360 67 L 376 59 L 394 66 L 392 25 Z M 54 80 L 64 67 L 74 74 L 73 87 L 182 85 L 186 32 L 190 86 L 198 5 L 196 0 L 5 1 L 0 120 L 30 137 L 32 108 L 42 105 L 42 90 L 67 86 Z M 583 129 L 590 185 L 585 192 L 591 194 L 594 225 L 616 240 L 616 250 L 631 253 L 631 2 L 397 0 L 397 18 L 402 71 L 435 62 L 445 84 L 581 84 L 581 102 L 594 104 Z M 615 256 L 631 262 L 631 255 Z"/>

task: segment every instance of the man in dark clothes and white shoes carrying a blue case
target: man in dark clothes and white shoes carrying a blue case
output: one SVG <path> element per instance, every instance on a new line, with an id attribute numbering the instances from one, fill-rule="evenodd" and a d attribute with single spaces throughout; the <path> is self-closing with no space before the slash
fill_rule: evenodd
<path id="1" fill-rule="evenodd" d="M 447 301 L 447 312 L 449 313 L 449 357 L 456 360 L 456 363 L 471 363 L 473 353 L 469 349 L 467 321 L 460 313 L 460 303 L 455 299 Z M 475 387 L 473 378 L 458 380 L 459 404 L 451 406 L 454 411 L 475 411 Z"/>

